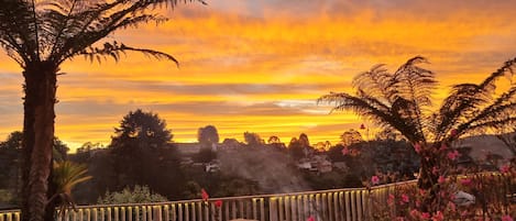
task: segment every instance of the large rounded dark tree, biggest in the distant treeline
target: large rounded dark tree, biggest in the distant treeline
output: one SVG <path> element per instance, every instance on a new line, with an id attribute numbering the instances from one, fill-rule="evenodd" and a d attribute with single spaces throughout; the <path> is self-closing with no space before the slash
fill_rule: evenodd
<path id="1" fill-rule="evenodd" d="M 163 195 L 179 191 L 172 177 L 182 177 L 179 153 L 168 144 L 172 134 L 166 122 L 155 113 L 136 110 L 129 112 L 114 129 L 111 141 L 113 168 L 118 184 L 114 189 L 125 186 L 147 185 Z M 167 172 L 163 174 L 163 172 Z M 160 179 L 156 177 L 160 176 Z"/>

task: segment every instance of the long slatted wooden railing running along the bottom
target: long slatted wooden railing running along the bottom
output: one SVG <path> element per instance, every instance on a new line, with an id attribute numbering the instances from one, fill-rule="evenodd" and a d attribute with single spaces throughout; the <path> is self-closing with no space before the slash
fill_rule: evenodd
<path id="1" fill-rule="evenodd" d="M 493 174 L 492 174 L 493 175 Z M 499 177 L 493 175 L 495 177 Z M 389 194 L 415 187 L 416 180 L 366 188 L 331 189 L 281 195 L 212 198 L 141 205 L 78 206 L 57 221 L 366 221 L 387 205 Z M 505 198 L 505 194 L 501 197 Z M 216 201 L 222 203 L 217 207 Z M 377 212 L 377 211 L 376 211 Z M 0 211 L 0 221 L 20 221 L 19 210 Z"/>

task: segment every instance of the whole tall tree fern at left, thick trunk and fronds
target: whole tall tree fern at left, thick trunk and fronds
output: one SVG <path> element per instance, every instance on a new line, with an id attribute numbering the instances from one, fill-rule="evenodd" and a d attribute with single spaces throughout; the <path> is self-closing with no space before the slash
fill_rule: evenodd
<path id="1" fill-rule="evenodd" d="M 57 102 L 59 66 L 84 55 L 100 62 L 116 60 L 125 52 L 139 52 L 177 60 L 165 53 L 136 48 L 118 42 L 99 41 L 114 31 L 165 21 L 153 13 L 158 5 L 176 5 L 176 0 L 90 1 L 90 0 L 0 0 L 0 47 L 23 69 L 23 195 L 22 220 L 53 220 L 54 207 L 47 209 L 55 188 L 52 181 L 54 104 Z M 51 189 L 51 190 L 50 190 Z M 45 217 L 46 214 L 46 217 Z M 45 217 L 45 218 L 44 218 Z"/>

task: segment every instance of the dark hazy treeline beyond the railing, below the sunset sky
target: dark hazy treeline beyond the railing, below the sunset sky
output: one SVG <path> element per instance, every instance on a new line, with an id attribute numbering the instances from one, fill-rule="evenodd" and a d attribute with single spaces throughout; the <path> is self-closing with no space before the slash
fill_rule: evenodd
<path id="1" fill-rule="evenodd" d="M 21 137 L 15 132 L 0 145 L 0 189 L 10 192 L 9 199 L 2 199 L 4 205 L 13 206 L 18 199 Z M 179 200 L 199 198 L 202 188 L 212 197 L 229 197 L 361 187 L 377 173 L 393 175 L 394 181 L 414 178 L 417 169 L 418 159 L 406 142 L 388 137 L 364 142 L 353 130 L 344 132 L 334 146 L 329 142 L 312 146 L 304 133 L 288 144 L 277 136 L 265 142 L 253 132 L 244 132 L 243 139 L 220 142 L 217 128 L 207 125 L 198 130 L 197 144 L 185 146 L 172 142 L 172 130 L 157 113 L 138 109 L 123 117 L 108 146 L 87 142 L 68 154 L 56 139 L 59 154 L 55 156 L 87 165 L 92 178 L 73 192 L 79 205 L 106 202 L 101 199 L 106 192 L 134 187 Z M 330 162 L 331 169 L 301 166 L 315 162 Z"/>

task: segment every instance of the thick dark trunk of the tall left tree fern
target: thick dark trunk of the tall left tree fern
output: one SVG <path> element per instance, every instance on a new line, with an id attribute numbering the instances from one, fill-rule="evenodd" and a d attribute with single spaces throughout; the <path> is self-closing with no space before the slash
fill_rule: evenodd
<path id="1" fill-rule="evenodd" d="M 48 212 L 57 69 L 52 63 L 35 62 L 23 71 L 22 221 L 43 221 Z"/>

